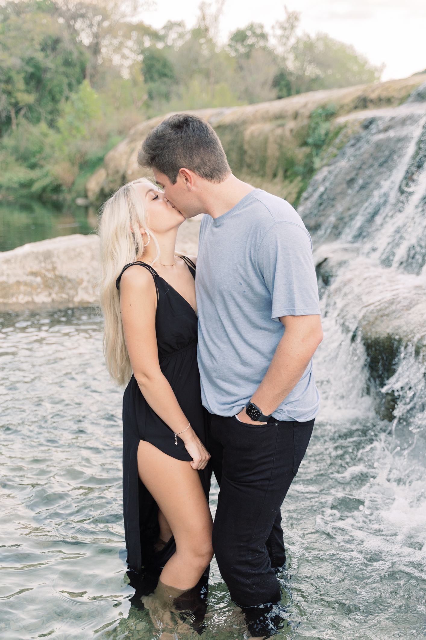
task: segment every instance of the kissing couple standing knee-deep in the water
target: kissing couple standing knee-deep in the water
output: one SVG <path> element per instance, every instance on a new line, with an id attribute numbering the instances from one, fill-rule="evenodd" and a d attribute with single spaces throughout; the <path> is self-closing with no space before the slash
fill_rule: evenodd
<path id="1" fill-rule="evenodd" d="M 215 554 L 244 611 L 276 604 L 280 508 L 319 410 L 312 241 L 289 203 L 232 175 L 197 116 L 164 120 L 138 161 L 158 187 L 119 188 L 99 229 L 105 361 L 127 385 L 128 566 L 161 571 L 170 599 L 200 584 Z M 178 228 L 200 213 L 198 256 L 176 253 Z"/>

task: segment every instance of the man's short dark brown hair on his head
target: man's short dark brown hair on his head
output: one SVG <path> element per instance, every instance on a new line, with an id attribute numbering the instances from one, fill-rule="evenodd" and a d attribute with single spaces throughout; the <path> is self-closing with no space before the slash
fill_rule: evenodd
<path id="1" fill-rule="evenodd" d="M 170 116 L 150 131 L 137 161 L 140 166 L 164 173 L 172 184 L 176 184 L 181 168 L 190 169 L 209 182 L 223 182 L 231 173 L 213 127 L 188 113 Z"/>

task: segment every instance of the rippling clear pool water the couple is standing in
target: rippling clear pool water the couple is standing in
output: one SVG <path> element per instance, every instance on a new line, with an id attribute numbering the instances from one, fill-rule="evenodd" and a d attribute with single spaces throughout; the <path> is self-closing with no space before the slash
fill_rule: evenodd
<path id="1" fill-rule="evenodd" d="M 315 360 L 323 406 L 282 508 L 278 637 L 421 636 L 425 470 L 363 396 L 359 346 L 327 317 L 324 328 Z M 122 394 L 102 362 L 100 317 L 4 314 L 0 336 L 1 637 L 160 637 L 149 612 L 129 602 Z M 213 513 L 216 499 L 214 485 Z M 214 561 L 208 602 L 206 640 L 248 637 Z"/>

